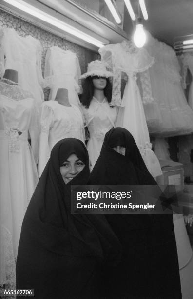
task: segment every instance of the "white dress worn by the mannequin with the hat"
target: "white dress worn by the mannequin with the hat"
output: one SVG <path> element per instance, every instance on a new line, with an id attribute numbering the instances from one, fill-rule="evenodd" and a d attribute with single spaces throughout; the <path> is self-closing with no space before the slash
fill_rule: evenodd
<path id="1" fill-rule="evenodd" d="M 83 105 L 81 107 L 85 118 L 85 127 L 88 127 L 90 133 L 87 149 L 92 171 L 100 155 L 105 134 L 115 127 L 117 109 L 110 107 L 106 98 L 99 102 L 95 97 L 91 100 L 88 109 Z"/>

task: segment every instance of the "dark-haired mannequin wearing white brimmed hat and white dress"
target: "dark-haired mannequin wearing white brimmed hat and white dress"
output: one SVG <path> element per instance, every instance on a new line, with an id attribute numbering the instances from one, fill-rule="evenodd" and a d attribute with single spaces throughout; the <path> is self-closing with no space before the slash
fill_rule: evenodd
<path id="1" fill-rule="evenodd" d="M 112 85 L 109 77 L 112 76 L 103 62 L 95 60 L 88 64 L 87 72 L 80 77 L 85 79 L 81 102 L 85 127 L 90 133 L 87 149 L 91 170 L 97 162 L 106 132 L 116 123 L 116 107 L 110 106 Z"/>

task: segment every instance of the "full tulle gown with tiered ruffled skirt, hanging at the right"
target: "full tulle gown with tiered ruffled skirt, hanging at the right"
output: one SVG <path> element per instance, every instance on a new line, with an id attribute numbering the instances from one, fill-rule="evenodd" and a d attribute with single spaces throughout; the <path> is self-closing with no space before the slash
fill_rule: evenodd
<path id="1" fill-rule="evenodd" d="M 154 39 L 150 34 L 148 34 L 148 43 L 145 48 L 155 58 L 155 63 L 148 71 L 152 96 L 158 104 L 162 119 L 159 126 L 150 124 L 150 133 L 155 137 L 192 133 L 193 111 L 187 103 L 181 86 L 180 65 L 174 50 L 167 44 Z M 151 104 L 145 112 L 155 113 L 158 118 L 160 117 Z"/>

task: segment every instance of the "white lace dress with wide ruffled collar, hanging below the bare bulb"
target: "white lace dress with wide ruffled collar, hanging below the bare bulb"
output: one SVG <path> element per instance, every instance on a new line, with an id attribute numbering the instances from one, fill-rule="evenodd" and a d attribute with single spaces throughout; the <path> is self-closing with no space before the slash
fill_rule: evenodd
<path id="1" fill-rule="evenodd" d="M 154 58 L 145 49 L 136 49 L 132 42 L 110 44 L 99 49 L 101 59 L 113 70 L 112 104 L 120 106 L 117 127 L 126 128 L 133 135 L 149 172 L 162 174 L 157 157 L 152 151 L 140 91 L 136 83 L 137 73 L 152 66 Z M 121 100 L 121 74 L 128 76 Z"/>

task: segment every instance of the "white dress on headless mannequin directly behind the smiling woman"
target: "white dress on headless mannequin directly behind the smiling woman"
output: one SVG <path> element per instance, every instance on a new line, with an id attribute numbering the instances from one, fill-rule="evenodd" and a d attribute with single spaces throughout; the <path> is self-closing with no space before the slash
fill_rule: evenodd
<path id="1" fill-rule="evenodd" d="M 45 101 L 41 106 L 41 133 L 39 140 L 39 177 L 50 158 L 54 145 L 64 138 L 77 138 L 84 142 L 84 126 L 80 109 Z"/>

